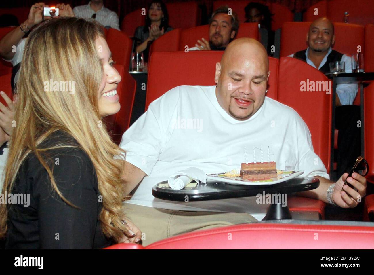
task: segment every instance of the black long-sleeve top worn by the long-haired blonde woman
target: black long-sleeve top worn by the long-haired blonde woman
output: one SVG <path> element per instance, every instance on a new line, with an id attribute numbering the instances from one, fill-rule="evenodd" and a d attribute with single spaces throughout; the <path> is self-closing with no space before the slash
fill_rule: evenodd
<path id="1" fill-rule="evenodd" d="M 40 146 L 61 142 L 78 143 L 62 131 L 53 133 Z M 43 158 L 53 163 L 53 177 L 59 191 L 78 208 L 65 203 L 55 192 L 50 177 L 34 154 L 22 163 L 12 193 L 30 194 L 29 206 L 8 204 L 8 231 L 5 248 L 103 248 L 105 238 L 98 220 L 102 199 L 96 172 L 80 148 L 48 150 Z"/>

